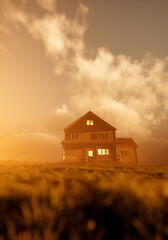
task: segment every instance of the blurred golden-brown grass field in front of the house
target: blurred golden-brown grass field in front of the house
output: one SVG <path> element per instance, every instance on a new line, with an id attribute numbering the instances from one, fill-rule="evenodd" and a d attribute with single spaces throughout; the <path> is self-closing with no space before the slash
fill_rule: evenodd
<path id="1" fill-rule="evenodd" d="M 1 161 L 4 239 L 168 239 L 168 167 Z"/>

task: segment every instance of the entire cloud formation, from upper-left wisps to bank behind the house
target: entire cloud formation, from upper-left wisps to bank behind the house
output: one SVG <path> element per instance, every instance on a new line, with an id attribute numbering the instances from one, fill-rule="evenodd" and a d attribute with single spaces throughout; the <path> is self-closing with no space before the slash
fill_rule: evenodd
<path id="1" fill-rule="evenodd" d="M 46 132 L 60 133 L 68 120 L 92 110 L 119 129 L 119 136 L 139 142 L 168 139 L 168 57 L 159 59 L 147 53 L 136 60 L 101 47 L 94 58 L 88 58 L 86 52 L 91 49 L 84 40 L 88 27 L 85 5 L 79 4 L 71 19 L 58 13 L 53 1 L 37 0 L 48 10 L 40 16 L 7 2 L 10 11 L 6 16 L 12 12 L 13 21 L 43 43 L 54 73 L 68 78 L 65 102 L 48 117 Z"/>

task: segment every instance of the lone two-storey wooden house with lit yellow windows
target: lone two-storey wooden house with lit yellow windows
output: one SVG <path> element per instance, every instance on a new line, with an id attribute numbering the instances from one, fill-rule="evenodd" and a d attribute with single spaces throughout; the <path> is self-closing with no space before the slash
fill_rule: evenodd
<path id="1" fill-rule="evenodd" d="M 137 163 L 137 144 L 117 138 L 116 128 L 89 111 L 64 129 L 63 160 Z"/>

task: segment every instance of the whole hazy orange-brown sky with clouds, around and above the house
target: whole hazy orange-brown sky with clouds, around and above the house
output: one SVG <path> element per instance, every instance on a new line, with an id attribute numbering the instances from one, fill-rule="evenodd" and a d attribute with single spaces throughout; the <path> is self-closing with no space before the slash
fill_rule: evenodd
<path id="1" fill-rule="evenodd" d="M 1 0 L 0 159 L 60 160 L 88 111 L 168 164 L 167 0 Z"/>

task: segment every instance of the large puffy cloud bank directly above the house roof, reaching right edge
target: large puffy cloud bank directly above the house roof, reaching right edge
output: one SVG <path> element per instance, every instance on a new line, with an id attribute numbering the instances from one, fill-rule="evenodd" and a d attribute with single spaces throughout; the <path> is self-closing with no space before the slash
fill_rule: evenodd
<path id="1" fill-rule="evenodd" d="M 168 58 L 131 60 L 101 48 L 95 59 L 79 56 L 76 64 L 71 104 L 78 111 L 89 107 L 138 140 L 155 137 L 152 127 L 168 122 Z"/>

